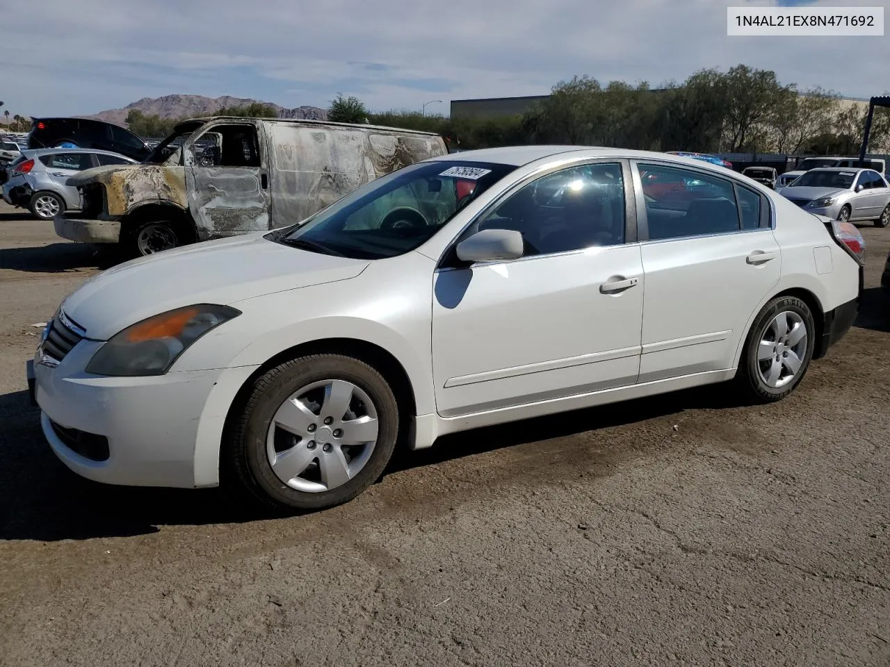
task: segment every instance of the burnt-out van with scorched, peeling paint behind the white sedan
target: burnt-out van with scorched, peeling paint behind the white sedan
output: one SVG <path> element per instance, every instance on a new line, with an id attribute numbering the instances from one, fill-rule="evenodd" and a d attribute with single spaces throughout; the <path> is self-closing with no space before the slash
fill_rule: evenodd
<path id="1" fill-rule="evenodd" d="M 72 178 L 84 211 L 55 229 L 148 255 L 293 224 L 384 173 L 447 154 L 437 134 L 392 127 L 198 118 L 176 125 L 141 165 Z"/>

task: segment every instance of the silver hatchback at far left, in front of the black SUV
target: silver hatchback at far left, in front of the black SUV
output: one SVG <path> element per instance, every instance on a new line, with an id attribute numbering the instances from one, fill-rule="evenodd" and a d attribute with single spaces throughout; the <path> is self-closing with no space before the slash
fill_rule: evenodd
<path id="1" fill-rule="evenodd" d="M 80 207 L 77 188 L 66 184 L 71 176 L 94 166 L 135 164 L 107 150 L 25 150 L 6 168 L 3 198 L 7 204 L 28 208 L 36 218 L 53 220 L 58 213 Z"/>

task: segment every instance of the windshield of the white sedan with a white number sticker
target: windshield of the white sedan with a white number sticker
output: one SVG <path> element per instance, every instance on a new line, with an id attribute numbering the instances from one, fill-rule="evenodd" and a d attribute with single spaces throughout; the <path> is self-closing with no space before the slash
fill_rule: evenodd
<path id="1" fill-rule="evenodd" d="M 512 165 L 435 161 L 371 181 L 272 240 L 353 259 L 395 257 L 423 245 Z"/>

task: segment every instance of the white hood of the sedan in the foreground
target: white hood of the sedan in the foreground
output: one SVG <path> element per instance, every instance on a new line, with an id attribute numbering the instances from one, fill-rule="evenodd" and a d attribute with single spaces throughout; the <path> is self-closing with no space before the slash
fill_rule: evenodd
<path id="1" fill-rule="evenodd" d="M 233 305 L 255 296 L 358 276 L 366 260 L 311 253 L 255 232 L 141 257 L 87 280 L 62 302 L 88 338 L 196 303 Z M 237 306 L 235 306 L 237 308 Z"/>

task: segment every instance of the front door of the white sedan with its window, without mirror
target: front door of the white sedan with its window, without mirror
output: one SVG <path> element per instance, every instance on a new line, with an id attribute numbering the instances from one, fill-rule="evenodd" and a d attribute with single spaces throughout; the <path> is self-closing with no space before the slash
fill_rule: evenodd
<path id="1" fill-rule="evenodd" d="M 433 276 L 433 376 L 443 416 L 631 385 L 640 360 L 643 266 L 627 243 L 619 162 L 563 168 L 471 225 L 522 232 L 519 260 Z M 635 232 L 634 232 L 635 233 Z"/>

